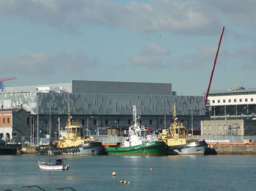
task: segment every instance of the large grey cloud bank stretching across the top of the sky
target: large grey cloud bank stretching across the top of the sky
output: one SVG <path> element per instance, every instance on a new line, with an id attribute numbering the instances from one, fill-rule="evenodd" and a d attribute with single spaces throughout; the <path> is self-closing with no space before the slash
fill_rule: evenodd
<path id="1" fill-rule="evenodd" d="M 78 31 L 79 24 L 86 23 L 191 35 L 214 34 L 221 26 L 217 14 L 220 9 L 216 5 L 216 11 L 211 6 L 201 0 L 132 1 L 126 5 L 105 0 L 9 0 L 0 1 L 0 14 L 47 23 L 72 33 Z"/>

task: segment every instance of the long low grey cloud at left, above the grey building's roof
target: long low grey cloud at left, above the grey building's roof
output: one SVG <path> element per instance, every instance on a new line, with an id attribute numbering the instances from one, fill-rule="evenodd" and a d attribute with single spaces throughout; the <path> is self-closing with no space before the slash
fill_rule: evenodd
<path id="1" fill-rule="evenodd" d="M 87 56 L 79 52 L 67 54 L 61 52 L 54 56 L 45 52 L 28 54 L 18 52 L 13 57 L 0 59 L 2 70 L 20 74 L 45 75 L 54 74 L 58 70 L 63 73 L 82 72 L 88 67 L 97 66 L 99 62 L 95 58 L 90 61 Z"/>

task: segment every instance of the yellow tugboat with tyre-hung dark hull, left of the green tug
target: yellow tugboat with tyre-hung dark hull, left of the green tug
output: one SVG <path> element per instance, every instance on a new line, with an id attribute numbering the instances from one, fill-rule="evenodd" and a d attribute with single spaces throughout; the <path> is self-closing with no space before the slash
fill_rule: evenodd
<path id="1" fill-rule="evenodd" d="M 69 109 L 68 103 L 68 109 Z M 65 127 L 66 135 L 59 138 L 58 141 L 53 141 L 53 154 L 63 155 L 84 155 L 84 154 L 106 154 L 105 147 L 102 142 L 94 141 L 93 137 L 82 136 L 82 125 L 73 117 L 70 116 L 68 110 L 68 120 Z M 45 149 L 43 149 L 45 153 Z"/>

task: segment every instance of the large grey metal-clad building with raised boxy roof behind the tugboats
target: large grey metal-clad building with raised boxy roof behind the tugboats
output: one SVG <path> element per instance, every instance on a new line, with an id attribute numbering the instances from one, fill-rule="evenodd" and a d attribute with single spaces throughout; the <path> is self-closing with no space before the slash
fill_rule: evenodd
<path id="1" fill-rule="evenodd" d="M 31 111 L 27 124 L 33 119 L 33 124 L 37 125 L 38 114 L 40 129 L 47 123 L 50 97 L 53 128 L 57 130 L 59 118 L 60 126 L 65 127 L 62 122 L 67 119 L 68 102 L 71 114 L 91 132 L 117 125 L 128 128 L 132 123 L 132 105 L 136 105 L 137 113 L 142 116 L 140 122 L 152 131 L 168 127 L 173 119 L 172 104 L 177 106 L 178 120 L 184 121 L 189 129 L 192 125 L 191 109 L 195 128 L 199 128 L 200 120 L 208 118 L 203 96 L 176 96 L 171 83 L 72 80 L 71 83 L 6 87 L 5 90 L 6 93 L 0 95 L 3 108 L 22 104 Z"/>

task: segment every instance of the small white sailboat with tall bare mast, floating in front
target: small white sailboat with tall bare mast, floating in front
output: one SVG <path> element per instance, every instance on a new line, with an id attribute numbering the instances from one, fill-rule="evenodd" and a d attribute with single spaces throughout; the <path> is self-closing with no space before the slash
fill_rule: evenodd
<path id="1" fill-rule="evenodd" d="M 42 158 L 40 158 L 41 151 L 39 151 L 39 158 L 38 158 L 39 169 L 42 169 L 42 170 L 68 170 L 69 169 L 68 159 L 51 158 L 51 99 L 50 99 L 50 130 L 49 130 L 49 134 L 50 134 L 49 144 L 48 144 L 49 152 L 48 151 L 44 152 L 44 154 L 49 155 L 49 159 L 48 159 L 48 162 L 45 162 Z"/>

